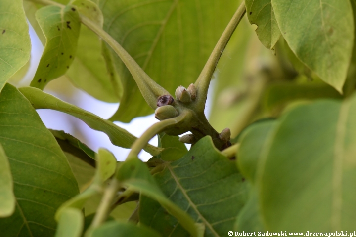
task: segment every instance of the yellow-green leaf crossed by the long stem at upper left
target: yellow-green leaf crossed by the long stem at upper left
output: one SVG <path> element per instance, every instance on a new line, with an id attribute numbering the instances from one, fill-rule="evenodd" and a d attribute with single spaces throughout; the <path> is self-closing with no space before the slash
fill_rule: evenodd
<path id="1" fill-rule="evenodd" d="M 72 4 L 82 15 L 102 27 L 103 15 L 94 2 L 75 0 Z M 91 96 L 106 102 L 119 102 L 122 85 L 110 57 L 100 38 L 88 27 L 82 26 L 76 57 L 67 76 Z"/>

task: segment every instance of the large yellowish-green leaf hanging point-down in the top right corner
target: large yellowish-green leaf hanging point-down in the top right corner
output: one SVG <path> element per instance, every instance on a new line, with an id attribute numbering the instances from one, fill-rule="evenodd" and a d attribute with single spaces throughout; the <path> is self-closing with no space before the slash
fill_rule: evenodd
<path id="1" fill-rule="evenodd" d="M 342 93 L 354 44 L 350 1 L 272 0 L 272 6 L 295 55 Z"/>

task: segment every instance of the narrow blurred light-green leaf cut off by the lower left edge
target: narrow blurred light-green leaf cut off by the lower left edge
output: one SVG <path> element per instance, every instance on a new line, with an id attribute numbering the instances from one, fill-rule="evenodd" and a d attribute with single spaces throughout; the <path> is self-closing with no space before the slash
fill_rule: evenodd
<path id="1" fill-rule="evenodd" d="M 0 144 L 0 217 L 11 216 L 15 211 L 15 204 L 10 164 Z"/>

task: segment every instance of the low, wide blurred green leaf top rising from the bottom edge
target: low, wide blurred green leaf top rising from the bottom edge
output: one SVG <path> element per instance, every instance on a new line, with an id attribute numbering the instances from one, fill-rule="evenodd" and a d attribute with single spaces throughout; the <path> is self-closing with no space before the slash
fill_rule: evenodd
<path id="1" fill-rule="evenodd" d="M 161 237 L 156 231 L 133 223 L 109 221 L 94 229 L 91 237 Z"/>

